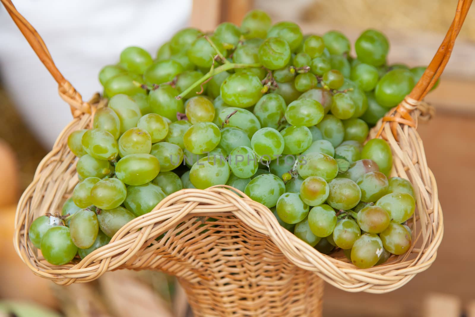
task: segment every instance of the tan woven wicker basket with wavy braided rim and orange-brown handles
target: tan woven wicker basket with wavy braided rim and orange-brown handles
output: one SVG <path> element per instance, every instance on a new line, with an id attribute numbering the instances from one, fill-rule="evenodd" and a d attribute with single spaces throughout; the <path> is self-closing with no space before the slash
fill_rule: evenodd
<path id="1" fill-rule="evenodd" d="M 435 260 L 443 233 L 442 211 L 416 127 L 418 118 L 427 119 L 432 113 L 421 100 L 447 64 L 471 0 L 458 1 L 456 17 L 421 80 L 370 133 L 389 142 L 394 155 L 391 176 L 408 178 L 417 196 L 412 248 L 370 269 L 357 269 L 342 255 L 319 253 L 282 228 L 268 208 L 226 186 L 175 192 L 80 262 L 47 263 L 28 241 L 28 228 L 38 215 L 59 211 L 71 195 L 78 180 L 67 136 L 91 125 L 100 98 L 82 101 L 55 67 L 35 29 L 10 0 L 1 2 L 57 80 L 59 94 L 74 117 L 39 164 L 16 214 L 15 248 L 38 276 L 68 285 L 114 269 L 160 270 L 178 277 L 197 317 L 315 317 L 321 316 L 323 280 L 351 292 L 385 293 L 403 286 Z M 214 219 L 209 221 L 210 217 Z"/>

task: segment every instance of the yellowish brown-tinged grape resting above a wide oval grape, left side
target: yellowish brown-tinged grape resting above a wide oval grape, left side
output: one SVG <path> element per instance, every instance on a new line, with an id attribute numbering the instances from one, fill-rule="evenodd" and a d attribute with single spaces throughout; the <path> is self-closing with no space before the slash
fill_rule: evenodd
<path id="1" fill-rule="evenodd" d="M 119 139 L 119 154 L 121 157 L 129 154 L 150 153 L 152 138 L 141 128 L 131 128 L 125 131 Z"/>

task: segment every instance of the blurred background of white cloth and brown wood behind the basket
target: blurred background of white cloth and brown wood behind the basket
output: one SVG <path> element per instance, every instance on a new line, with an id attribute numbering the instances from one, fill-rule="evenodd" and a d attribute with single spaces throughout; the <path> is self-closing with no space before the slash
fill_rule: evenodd
<path id="1" fill-rule="evenodd" d="M 305 33 L 338 29 L 352 42 L 367 28 L 390 39 L 389 62 L 426 66 L 453 19 L 456 0 L 17 0 L 57 67 L 85 99 L 100 89 L 101 67 L 127 46 L 152 55 L 178 29 L 240 24 L 248 10 L 274 22 L 292 20 Z M 16 203 L 42 157 L 70 121 L 69 107 L 3 7 L 0 8 L 0 316 L 188 316 L 174 280 L 117 271 L 96 282 L 58 287 L 33 275 L 12 246 Z M 406 286 L 384 295 L 326 286 L 323 315 L 475 316 L 475 10 L 469 12 L 438 88 L 427 101 L 436 116 L 420 123 L 428 165 L 437 178 L 445 234 L 437 260 Z M 40 311 L 40 305 L 49 311 Z M 45 308 L 46 307 L 46 308 Z M 22 309 L 19 311 L 18 309 Z M 43 309 L 43 308 L 41 308 Z M 59 314 L 59 315 L 56 315 Z M 12 316 L 5 313 L 5 316 Z"/>

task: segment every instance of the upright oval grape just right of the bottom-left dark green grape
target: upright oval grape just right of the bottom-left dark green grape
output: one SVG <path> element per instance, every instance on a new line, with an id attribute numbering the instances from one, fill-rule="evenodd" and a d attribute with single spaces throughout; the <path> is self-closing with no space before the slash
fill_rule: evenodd
<path id="1" fill-rule="evenodd" d="M 87 249 L 94 244 L 99 232 L 99 222 L 94 211 L 81 209 L 71 218 L 69 233 L 79 249 Z"/>

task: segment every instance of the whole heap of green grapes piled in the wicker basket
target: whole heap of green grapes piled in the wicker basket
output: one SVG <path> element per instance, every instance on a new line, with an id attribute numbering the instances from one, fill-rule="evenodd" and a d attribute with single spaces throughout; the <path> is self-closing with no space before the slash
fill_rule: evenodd
<path id="1" fill-rule="evenodd" d="M 153 57 L 125 48 L 99 73 L 107 105 L 69 135 L 79 183 L 61 213 L 32 222 L 31 242 L 63 265 L 173 192 L 227 184 L 325 254 L 343 249 L 361 268 L 403 254 L 414 191 L 388 179 L 390 146 L 366 139 L 424 67 L 388 66 L 376 30 L 350 48 L 261 10 L 213 33 L 182 29 Z"/>

